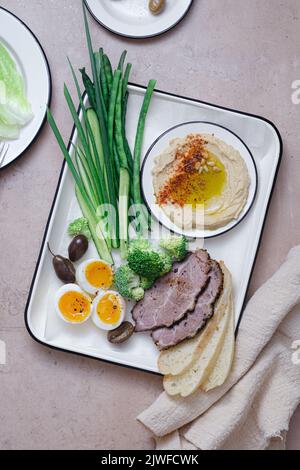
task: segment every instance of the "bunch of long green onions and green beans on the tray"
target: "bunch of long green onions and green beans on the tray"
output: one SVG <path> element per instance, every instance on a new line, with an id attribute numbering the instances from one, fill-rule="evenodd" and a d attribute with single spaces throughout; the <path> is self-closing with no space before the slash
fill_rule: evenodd
<path id="1" fill-rule="evenodd" d="M 103 49 L 94 51 L 84 6 L 83 13 L 92 78 L 84 68 L 80 72 L 89 100 L 88 108 L 69 61 L 82 122 L 70 92 L 64 85 L 64 95 L 78 135 L 77 144 L 74 146 L 74 159 L 69 154 L 50 110 L 47 115 L 73 175 L 77 200 L 88 220 L 98 254 L 101 259 L 112 263 L 112 248 L 120 248 L 122 258 L 127 256 L 129 205 L 135 204 L 141 208 L 137 230 L 145 230 L 149 223 L 148 212 L 141 196 L 140 164 L 146 116 L 156 82 L 149 81 L 132 153 L 126 137 L 128 81 L 132 65 L 128 63 L 125 67 L 127 53 L 124 51 L 117 69 L 113 70 Z"/>

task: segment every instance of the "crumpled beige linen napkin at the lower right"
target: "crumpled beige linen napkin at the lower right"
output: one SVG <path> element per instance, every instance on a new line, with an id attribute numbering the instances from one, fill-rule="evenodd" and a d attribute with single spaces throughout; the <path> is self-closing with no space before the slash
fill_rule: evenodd
<path id="1" fill-rule="evenodd" d="M 249 301 L 226 383 L 188 398 L 162 393 L 140 414 L 157 449 L 285 447 L 300 403 L 300 364 L 292 349 L 300 340 L 299 302 L 300 246 Z"/>

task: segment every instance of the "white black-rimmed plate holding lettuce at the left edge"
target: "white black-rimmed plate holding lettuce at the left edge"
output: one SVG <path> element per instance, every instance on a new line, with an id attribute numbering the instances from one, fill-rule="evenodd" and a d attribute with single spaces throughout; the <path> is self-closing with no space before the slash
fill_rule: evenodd
<path id="1" fill-rule="evenodd" d="M 0 41 L 6 46 L 25 79 L 33 119 L 23 127 L 20 137 L 9 141 L 1 169 L 29 147 L 41 129 L 51 99 L 51 76 L 45 53 L 32 31 L 19 18 L 0 7 Z"/>

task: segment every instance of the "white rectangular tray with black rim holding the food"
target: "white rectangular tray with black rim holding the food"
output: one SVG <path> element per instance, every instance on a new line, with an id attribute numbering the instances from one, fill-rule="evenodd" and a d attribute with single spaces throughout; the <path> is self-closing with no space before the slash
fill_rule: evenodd
<path id="1" fill-rule="evenodd" d="M 129 90 L 127 134 L 132 146 L 145 89 L 130 85 Z M 236 133 L 251 150 L 257 166 L 258 192 L 249 215 L 230 232 L 205 242 L 210 255 L 224 260 L 232 273 L 238 324 L 281 161 L 281 137 L 275 126 L 261 117 L 156 91 L 147 118 L 143 155 L 165 130 L 181 122 L 196 120 L 220 124 Z M 73 130 L 70 142 L 76 142 L 76 138 L 77 133 Z M 123 345 L 112 345 L 105 332 L 95 328 L 92 322 L 78 327 L 62 322 L 55 315 L 52 299 L 61 283 L 53 271 L 46 242 L 49 241 L 55 252 L 66 255 L 70 242 L 67 225 L 77 216 L 80 216 L 80 209 L 74 195 L 74 183 L 64 163 L 25 309 L 28 332 L 36 341 L 52 348 L 158 372 L 158 352 L 148 334 L 135 334 Z M 96 255 L 93 243 L 90 243 L 89 255 Z M 130 312 L 127 315 L 130 319 Z"/>

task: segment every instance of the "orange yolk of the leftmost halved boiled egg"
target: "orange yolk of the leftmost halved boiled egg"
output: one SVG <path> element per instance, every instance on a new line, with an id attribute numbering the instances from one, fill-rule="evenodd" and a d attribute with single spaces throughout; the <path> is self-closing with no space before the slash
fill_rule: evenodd
<path id="1" fill-rule="evenodd" d="M 70 291 L 61 296 L 58 308 L 66 320 L 80 323 L 90 314 L 91 302 L 80 292 Z"/>

